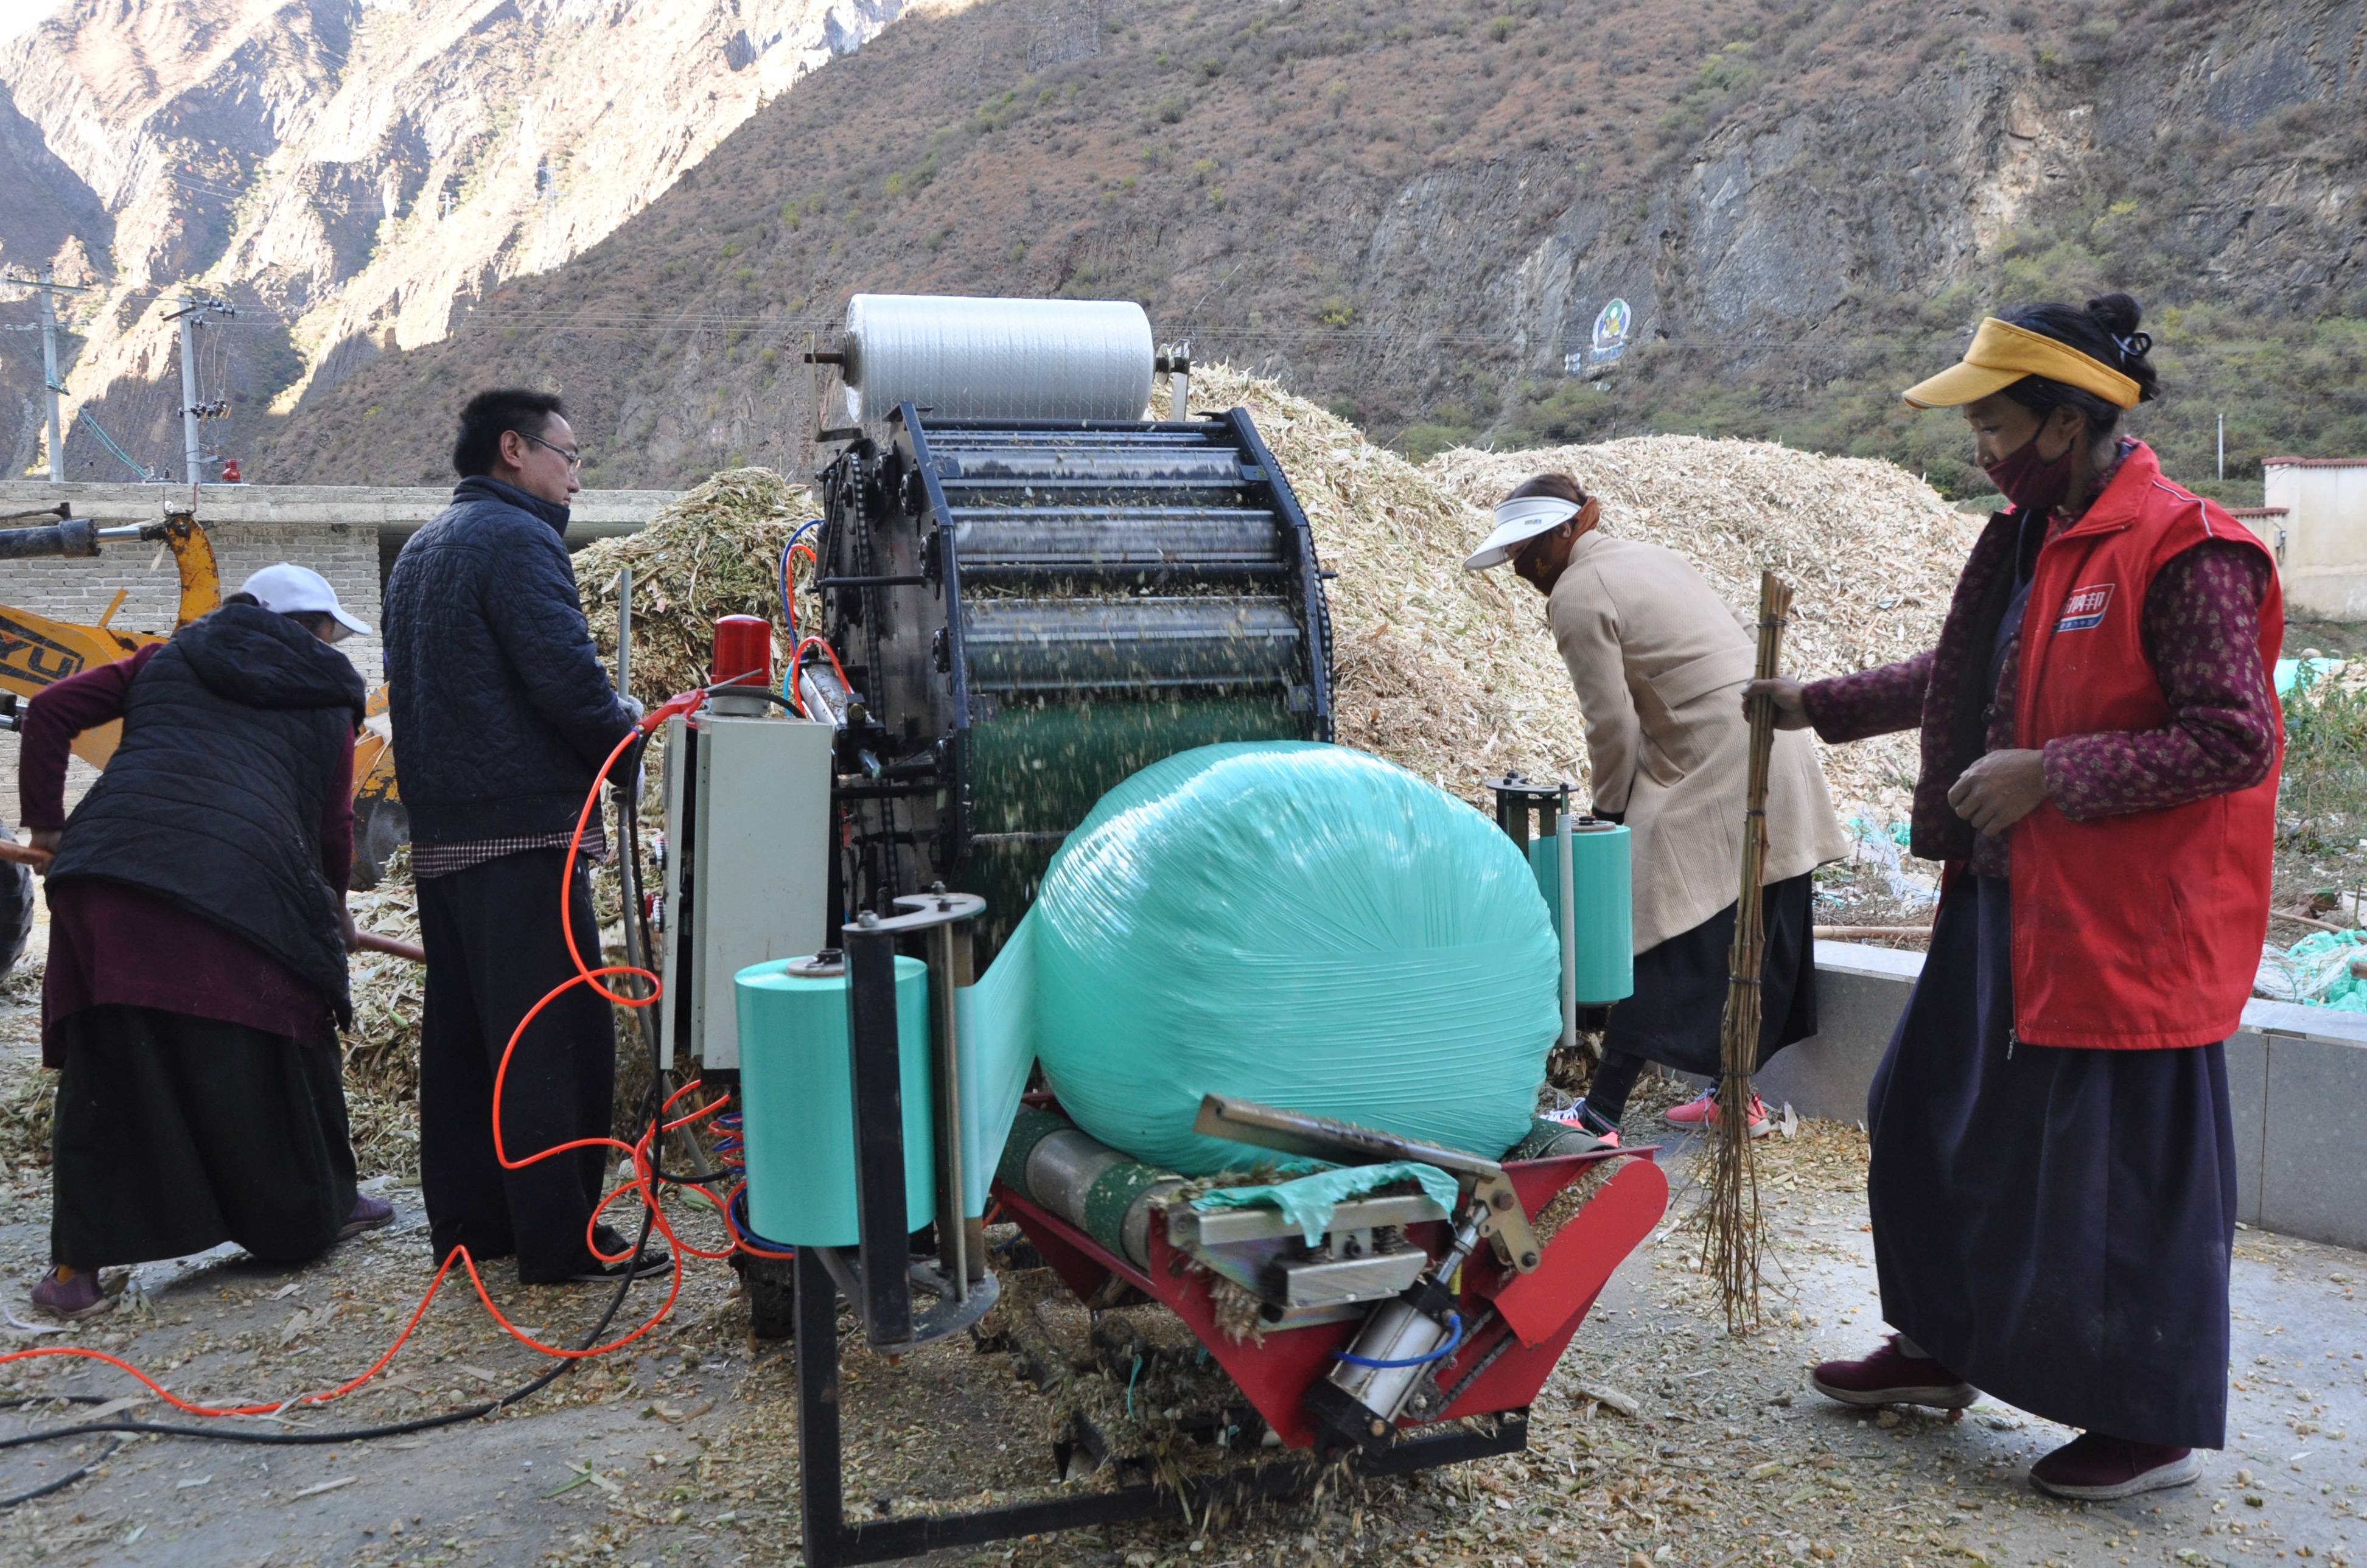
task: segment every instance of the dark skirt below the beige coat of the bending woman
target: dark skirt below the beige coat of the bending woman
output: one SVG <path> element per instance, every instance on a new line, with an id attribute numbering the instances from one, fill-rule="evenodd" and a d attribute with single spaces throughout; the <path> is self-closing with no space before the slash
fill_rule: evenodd
<path id="1" fill-rule="evenodd" d="M 1815 1034 L 1815 925 L 1808 873 L 1768 882 L 1766 958 L 1759 965 L 1759 1062 Z M 1735 944 L 1735 906 L 1636 953 L 1636 996 L 1612 1007 L 1605 1055 L 1659 1062 L 1716 1076 L 1726 1024 L 1726 960 Z"/>

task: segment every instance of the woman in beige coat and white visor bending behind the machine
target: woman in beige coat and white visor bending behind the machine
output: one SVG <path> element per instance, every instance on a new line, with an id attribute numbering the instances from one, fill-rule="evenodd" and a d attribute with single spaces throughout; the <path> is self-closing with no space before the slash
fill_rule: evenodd
<path id="1" fill-rule="evenodd" d="M 1636 996 L 1612 1007 L 1602 1067 L 1565 1114 L 1617 1140 L 1645 1062 L 1718 1071 L 1726 955 L 1742 866 L 1742 780 L 1749 724 L 1742 686 L 1752 636 L 1676 551 L 1595 530 L 1602 501 L 1565 473 L 1505 497 L 1498 527 L 1465 565 L 1513 570 L 1546 594 L 1553 641 L 1586 717 L 1595 816 L 1626 823 L 1636 877 Z M 1815 750 L 1775 736 L 1768 776 L 1763 1034 L 1759 1060 L 1815 1034 L 1815 941 L 1808 873 L 1849 851 Z M 1702 1095 L 1669 1112 L 1678 1126 L 1716 1119 Z M 1752 1133 L 1766 1107 L 1752 1100 Z"/>

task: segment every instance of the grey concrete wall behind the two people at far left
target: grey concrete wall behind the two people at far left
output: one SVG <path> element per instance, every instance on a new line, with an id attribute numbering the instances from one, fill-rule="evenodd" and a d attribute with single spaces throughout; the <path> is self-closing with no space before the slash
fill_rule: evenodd
<path id="1" fill-rule="evenodd" d="M 568 546 L 630 534 L 649 523 L 660 506 L 677 499 L 672 490 L 585 490 L 575 497 L 568 523 Z M 379 587 L 402 539 L 426 525 L 450 504 L 445 487 L 348 487 L 348 485 L 199 485 L 196 518 L 213 539 L 222 568 L 222 591 L 275 561 L 308 565 L 336 589 L 353 613 L 379 624 Z M 187 485 L 50 485 L 45 480 L 0 480 L 0 516 L 47 511 L 57 504 L 76 518 L 107 523 L 156 523 L 166 504 L 189 501 Z M 0 523 L 21 527 L 40 523 L 24 518 Z M 83 561 L 9 561 L 0 565 L 0 605 L 33 610 L 52 620 L 97 622 L 107 603 L 123 589 L 114 622 L 128 631 L 170 631 L 180 605 L 180 579 L 170 556 L 154 544 L 107 542 L 99 556 Z M 338 643 L 362 679 L 383 679 L 383 653 L 376 636 Z M 66 783 L 69 799 L 80 799 L 95 773 L 80 762 Z M 0 818 L 17 821 L 17 736 L 0 733 Z"/>

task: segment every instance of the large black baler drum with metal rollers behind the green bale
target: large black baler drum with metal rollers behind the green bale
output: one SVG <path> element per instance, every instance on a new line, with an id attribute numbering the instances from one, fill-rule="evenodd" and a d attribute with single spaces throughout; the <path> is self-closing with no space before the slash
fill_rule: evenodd
<path id="1" fill-rule="evenodd" d="M 1110 785 L 1195 745 L 1330 738 L 1323 570 L 1247 412 L 883 423 L 819 475 L 840 908 L 963 887 L 992 958 Z"/>

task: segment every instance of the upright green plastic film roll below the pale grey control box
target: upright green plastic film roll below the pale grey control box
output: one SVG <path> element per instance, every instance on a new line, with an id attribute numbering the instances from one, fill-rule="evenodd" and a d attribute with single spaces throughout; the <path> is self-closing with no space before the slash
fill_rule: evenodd
<path id="1" fill-rule="evenodd" d="M 847 977 L 786 970 L 776 960 L 734 977 L 748 1223 L 791 1246 L 852 1246 L 859 1230 Z M 895 1019 L 904 1069 L 904 1218 L 921 1230 L 937 1206 L 937 1114 L 928 1088 L 928 965 L 918 958 L 895 960 Z"/>

